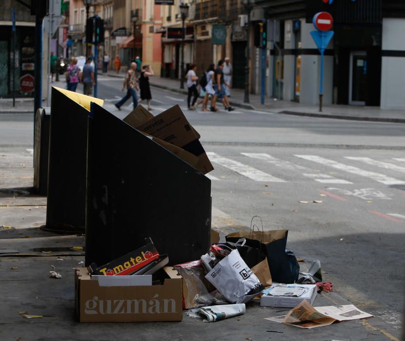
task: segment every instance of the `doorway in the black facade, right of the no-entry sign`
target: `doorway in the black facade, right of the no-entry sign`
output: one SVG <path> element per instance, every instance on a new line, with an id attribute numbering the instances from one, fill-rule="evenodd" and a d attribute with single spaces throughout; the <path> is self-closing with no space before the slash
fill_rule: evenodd
<path id="1" fill-rule="evenodd" d="M 349 104 L 366 105 L 367 56 L 366 51 L 350 52 Z"/>

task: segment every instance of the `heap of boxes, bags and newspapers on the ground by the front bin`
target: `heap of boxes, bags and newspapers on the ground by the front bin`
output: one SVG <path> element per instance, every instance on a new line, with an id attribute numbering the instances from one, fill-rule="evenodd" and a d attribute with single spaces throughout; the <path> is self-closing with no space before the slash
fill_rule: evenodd
<path id="1" fill-rule="evenodd" d="M 253 220 L 253 218 L 252 218 Z M 217 322 L 246 313 L 246 303 L 290 307 L 266 318 L 301 328 L 372 317 L 353 305 L 313 307 L 322 282 L 320 261 L 300 272 L 286 250 L 288 230 L 228 234 L 200 259 L 174 266 L 151 238 L 144 246 L 105 265 L 76 269 L 76 311 L 80 322 L 181 321 L 189 317 Z M 326 290 L 328 291 L 328 290 Z"/>

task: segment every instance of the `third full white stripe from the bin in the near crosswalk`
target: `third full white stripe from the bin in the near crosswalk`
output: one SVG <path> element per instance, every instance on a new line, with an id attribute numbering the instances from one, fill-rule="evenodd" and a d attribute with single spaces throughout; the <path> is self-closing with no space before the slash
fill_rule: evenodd
<path id="1" fill-rule="evenodd" d="M 300 157 L 305 160 L 317 162 L 317 163 L 320 163 L 325 166 L 333 167 L 338 170 L 347 171 L 348 173 L 362 175 L 362 176 L 368 177 L 372 180 L 375 180 L 375 181 L 380 182 L 385 185 L 404 185 L 405 184 L 404 181 L 392 178 L 385 174 L 381 174 L 381 173 L 377 173 L 377 172 L 373 172 L 373 171 L 369 171 L 369 170 L 362 170 L 362 169 L 354 167 L 354 166 L 348 166 L 348 165 L 345 165 L 340 162 L 325 159 L 321 156 L 317 156 L 317 155 L 294 155 L 294 156 Z"/>

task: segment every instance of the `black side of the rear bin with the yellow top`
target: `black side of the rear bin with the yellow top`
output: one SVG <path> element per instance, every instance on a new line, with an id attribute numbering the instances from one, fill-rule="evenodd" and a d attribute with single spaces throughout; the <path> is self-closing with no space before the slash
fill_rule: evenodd
<path id="1" fill-rule="evenodd" d="M 46 225 L 60 233 L 83 233 L 86 204 L 89 111 L 52 88 Z"/>

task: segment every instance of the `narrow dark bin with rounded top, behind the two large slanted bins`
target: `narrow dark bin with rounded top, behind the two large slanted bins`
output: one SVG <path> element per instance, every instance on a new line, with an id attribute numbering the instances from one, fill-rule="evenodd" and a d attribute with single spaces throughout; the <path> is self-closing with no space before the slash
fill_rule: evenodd
<path id="1" fill-rule="evenodd" d="M 39 195 L 46 195 L 48 187 L 50 114 L 51 108 L 39 108 L 35 115 L 34 190 Z"/>

